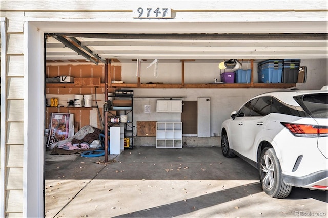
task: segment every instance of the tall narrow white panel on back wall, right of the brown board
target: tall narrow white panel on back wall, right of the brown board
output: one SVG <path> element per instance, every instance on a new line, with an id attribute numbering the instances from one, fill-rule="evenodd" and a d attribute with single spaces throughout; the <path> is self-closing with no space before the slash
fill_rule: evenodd
<path id="1" fill-rule="evenodd" d="M 211 136 L 211 98 L 197 98 L 197 136 Z"/>

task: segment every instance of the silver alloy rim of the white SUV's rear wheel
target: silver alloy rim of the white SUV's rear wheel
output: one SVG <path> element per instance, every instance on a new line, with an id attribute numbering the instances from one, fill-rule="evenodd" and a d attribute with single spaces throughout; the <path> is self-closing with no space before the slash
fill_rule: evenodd
<path id="1" fill-rule="evenodd" d="M 264 155 L 261 159 L 261 179 L 265 188 L 270 189 L 274 185 L 275 167 L 269 155 Z"/>

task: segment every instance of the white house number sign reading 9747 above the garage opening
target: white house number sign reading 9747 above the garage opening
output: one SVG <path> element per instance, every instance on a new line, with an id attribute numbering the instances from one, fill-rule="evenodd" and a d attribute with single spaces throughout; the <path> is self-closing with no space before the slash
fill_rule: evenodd
<path id="1" fill-rule="evenodd" d="M 171 8 L 163 7 L 139 7 L 133 10 L 136 19 L 170 19 Z"/>

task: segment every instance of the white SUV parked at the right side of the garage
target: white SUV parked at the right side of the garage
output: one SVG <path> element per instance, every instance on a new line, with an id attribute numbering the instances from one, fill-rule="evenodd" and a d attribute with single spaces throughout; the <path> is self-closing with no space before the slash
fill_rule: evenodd
<path id="1" fill-rule="evenodd" d="M 328 190 L 328 91 L 258 95 L 221 127 L 226 157 L 259 170 L 265 193 L 287 197 L 292 186 Z"/>

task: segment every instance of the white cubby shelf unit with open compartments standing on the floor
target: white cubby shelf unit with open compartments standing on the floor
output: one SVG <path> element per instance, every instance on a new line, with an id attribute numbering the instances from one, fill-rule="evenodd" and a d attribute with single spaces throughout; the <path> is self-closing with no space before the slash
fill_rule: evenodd
<path id="1" fill-rule="evenodd" d="M 157 122 L 156 148 L 182 148 L 182 122 Z"/>

